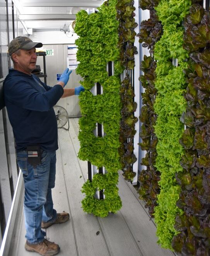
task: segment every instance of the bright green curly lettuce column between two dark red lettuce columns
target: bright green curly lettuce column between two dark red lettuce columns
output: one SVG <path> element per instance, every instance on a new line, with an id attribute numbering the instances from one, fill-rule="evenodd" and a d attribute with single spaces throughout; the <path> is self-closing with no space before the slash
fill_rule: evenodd
<path id="1" fill-rule="evenodd" d="M 154 58 L 157 60 L 154 110 L 157 120 L 154 126 L 157 142 L 155 167 L 160 171 L 160 194 L 155 206 L 158 243 L 163 248 L 172 250 L 172 239 L 179 232 L 174 228 L 177 214 L 183 211 L 176 206 L 181 188 L 176 182 L 176 173 L 182 173 L 180 165 L 184 149 L 179 144 L 184 131 L 180 118 L 186 109 L 184 94 L 186 78 L 184 62 L 189 57 L 183 48 L 182 21 L 189 13 L 190 0 L 160 0 L 155 7 L 163 25 L 163 35 L 155 44 Z M 178 66 L 173 67 L 172 59 L 178 59 Z"/>

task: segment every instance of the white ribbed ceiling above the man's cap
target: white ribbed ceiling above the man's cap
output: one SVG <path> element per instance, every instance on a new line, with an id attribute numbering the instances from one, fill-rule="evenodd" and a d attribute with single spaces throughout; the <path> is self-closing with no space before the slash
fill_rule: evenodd
<path id="1" fill-rule="evenodd" d="M 70 24 L 80 10 L 97 9 L 105 0 L 13 0 L 19 19 L 27 28 L 59 30 Z M 61 22 L 63 21 L 63 22 Z"/>

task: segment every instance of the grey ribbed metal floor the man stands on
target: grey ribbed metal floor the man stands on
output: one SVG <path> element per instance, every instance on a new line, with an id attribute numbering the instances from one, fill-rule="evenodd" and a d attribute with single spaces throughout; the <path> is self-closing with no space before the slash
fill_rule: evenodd
<path id="1" fill-rule="evenodd" d="M 53 225 L 46 237 L 60 245 L 60 256 L 174 256 L 157 245 L 156 228 L 147 210 L 138 199 L 135 188 L 119 172 L 119 194 L 123 207 L 116 214 L 98 218 L 84 213 L 80 191 L 87 179 L 87 163 L 77 158 L 79 119 L 69 119 L 70 129 L 58 129 L 56 185 L 53 189 L 54 207 L 70 213 L 70 221 Z M 24 249 L 25 228 L 20 202 L 9 256 L 36 256 Z M 99 234 L 98 234 L 99 233 Z"/>

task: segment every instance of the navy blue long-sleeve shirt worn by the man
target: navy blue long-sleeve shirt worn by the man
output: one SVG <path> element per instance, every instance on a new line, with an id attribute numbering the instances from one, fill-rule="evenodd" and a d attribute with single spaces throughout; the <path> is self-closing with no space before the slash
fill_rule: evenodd
<path id="1" fill-rule="evenodd" d="M 62 86 L 50 87 L 33 74 L 15 69 L 9 70 L 3 86 L 16 150 L 36 144 L 47 151 L 57 150 L 58 129 L 53 106 L 63 95 Z"/>

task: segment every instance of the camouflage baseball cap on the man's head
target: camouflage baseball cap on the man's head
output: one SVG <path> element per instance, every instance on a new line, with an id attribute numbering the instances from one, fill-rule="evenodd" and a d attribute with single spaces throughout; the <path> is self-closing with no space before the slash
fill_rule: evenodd
<path id="1" fill-rule="evenodd" d="M 32 48 L 42 47 L 42 43 L 33 42 L 30 38 L 26 36 L 17 36 L 9 44 L 8 52 L 12 55 L 19 49 L 22 50 L 31 50 Z"/>

